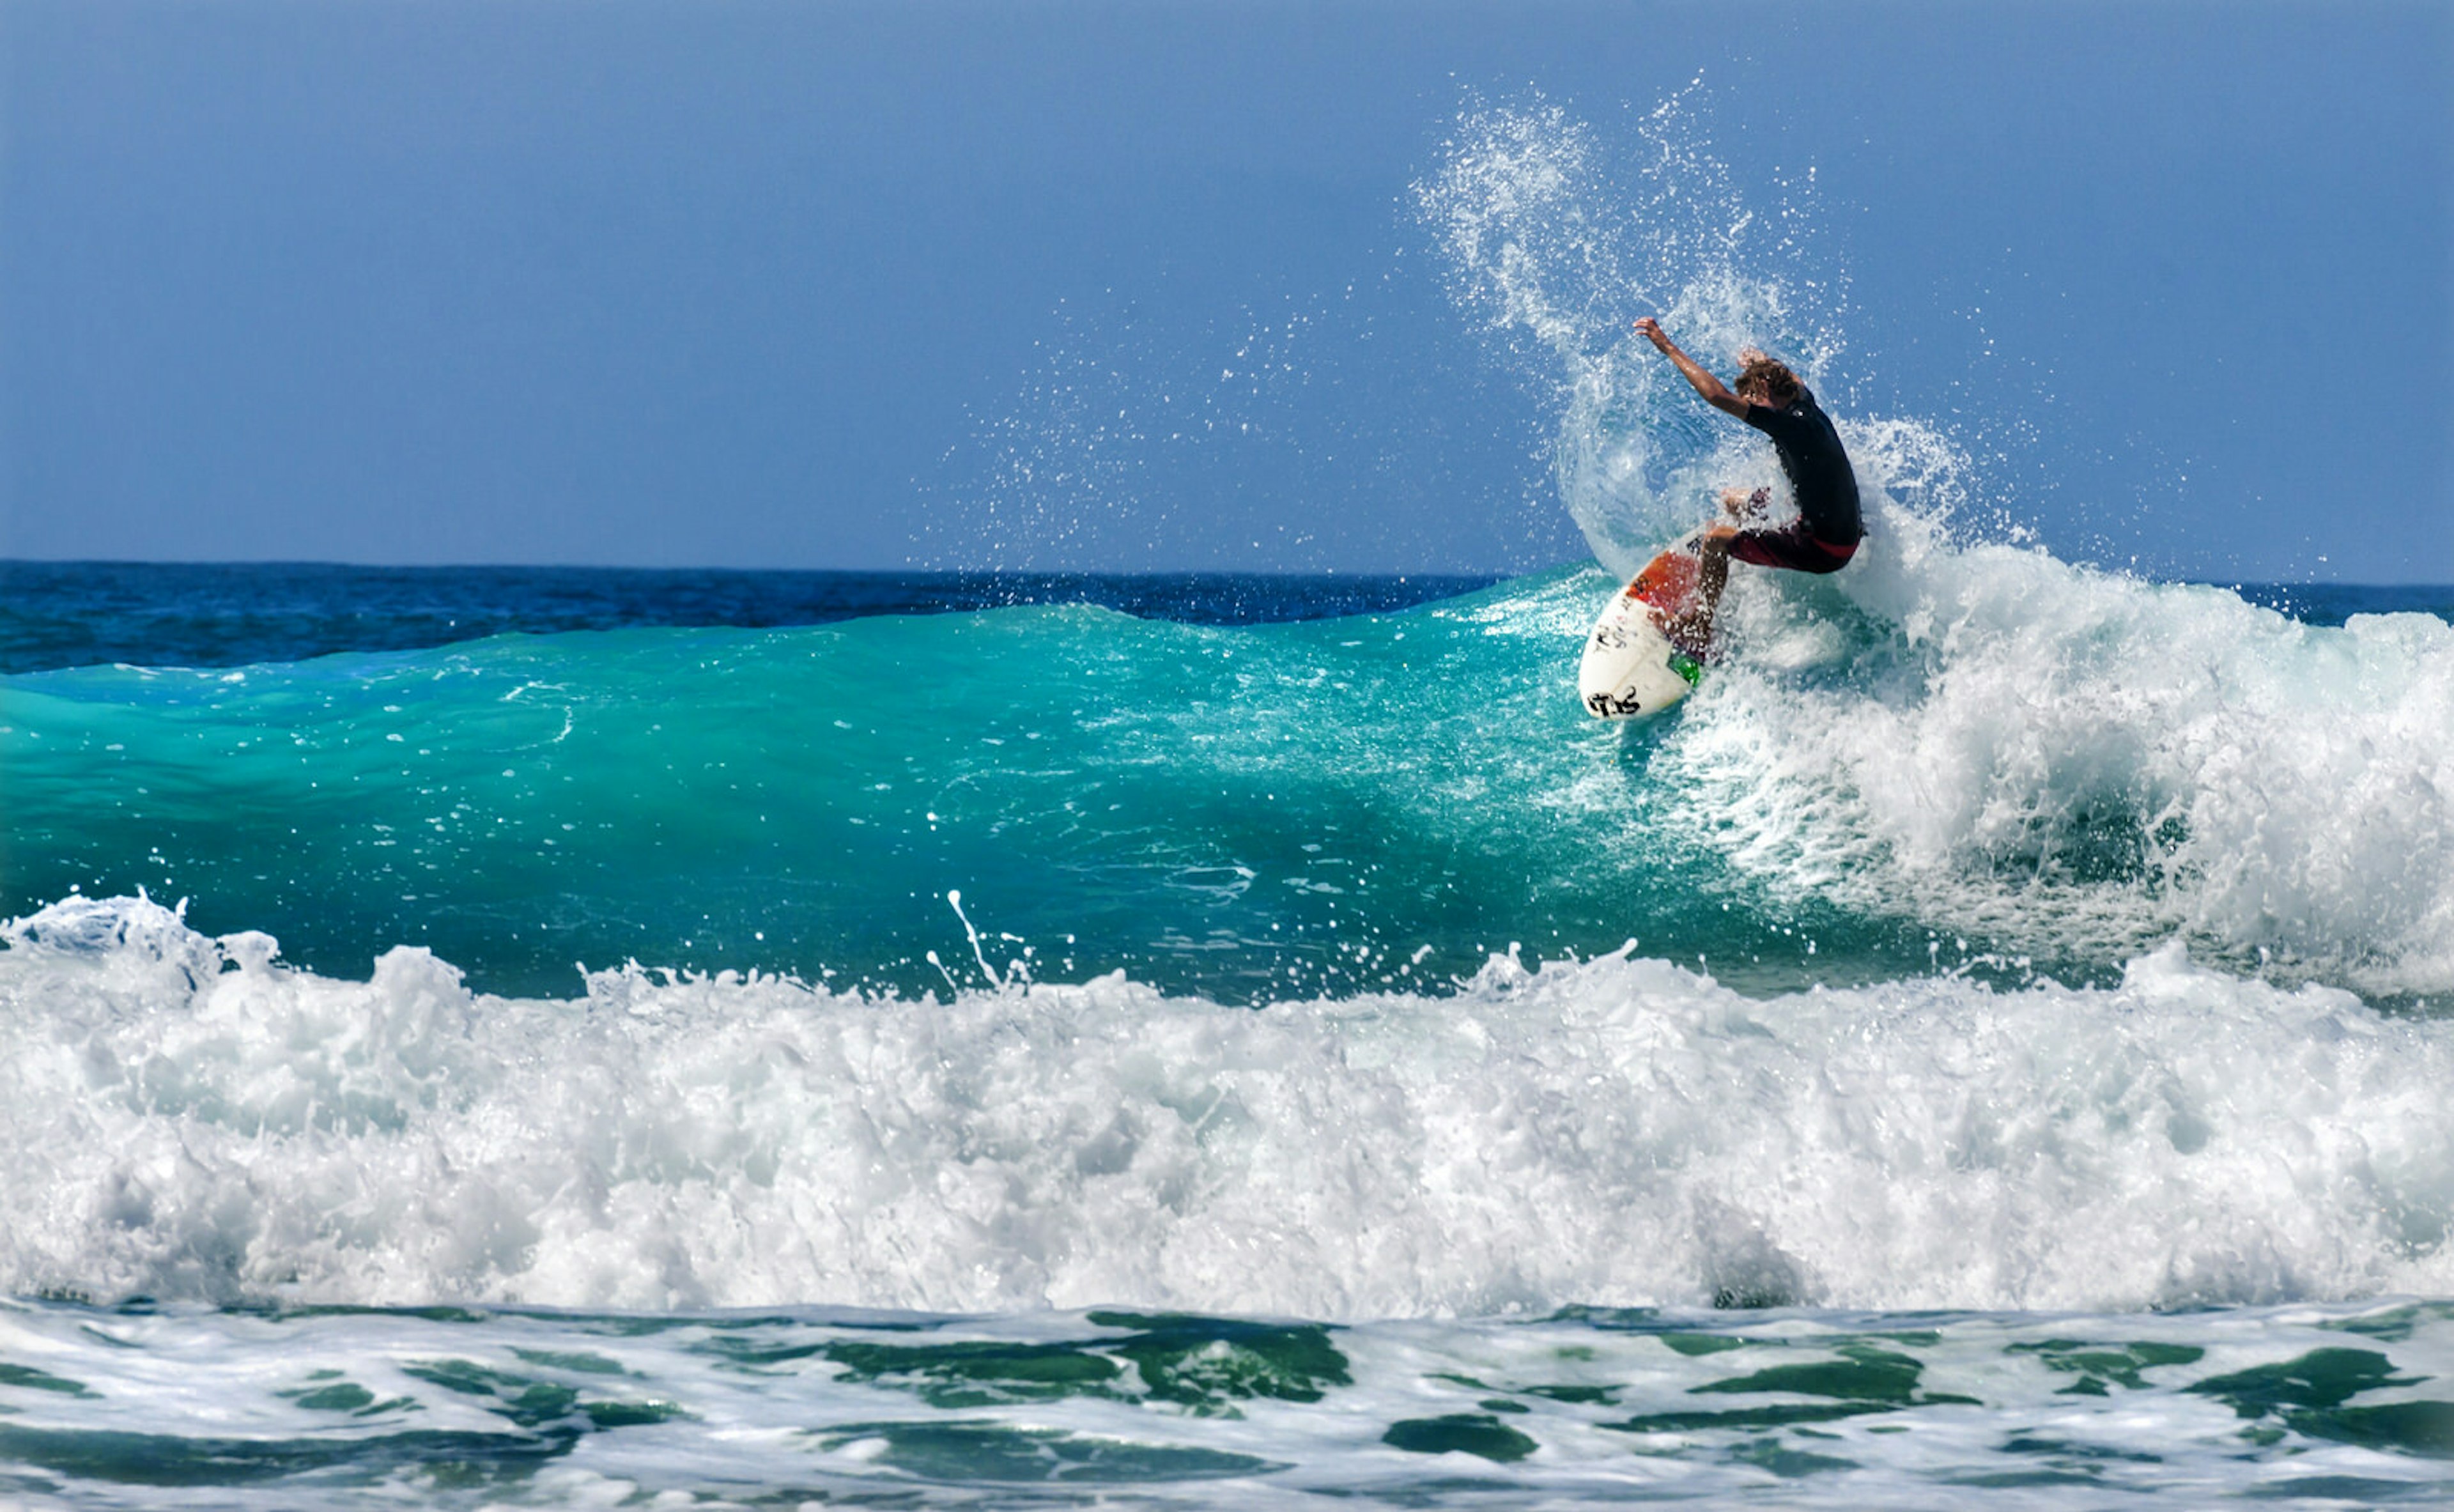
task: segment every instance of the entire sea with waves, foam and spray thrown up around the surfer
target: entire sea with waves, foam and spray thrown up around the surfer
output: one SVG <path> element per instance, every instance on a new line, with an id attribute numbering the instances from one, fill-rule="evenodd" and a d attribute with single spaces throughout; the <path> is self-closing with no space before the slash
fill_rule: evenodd
<path id="1" fill-rule="evenodd" d="M 0 1502 L 2454 1500 L 2454 589 L 2056 557 L 1647 162 L 1416 187 L 1593 562 L 0 567 Z M 1647 309 L 1872 533 L 1605 724 Z"/>

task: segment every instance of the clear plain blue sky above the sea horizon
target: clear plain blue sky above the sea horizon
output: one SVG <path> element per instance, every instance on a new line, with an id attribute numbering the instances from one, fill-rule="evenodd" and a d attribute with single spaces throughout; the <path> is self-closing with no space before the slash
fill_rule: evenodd
<path id="1" fill-rule="evenodd" d="M 0 555 L 1568 560 L 1409 184 L 1698 74 L 2056 552 L 2454 579 L 2434 0 L 0 0 Z"/>

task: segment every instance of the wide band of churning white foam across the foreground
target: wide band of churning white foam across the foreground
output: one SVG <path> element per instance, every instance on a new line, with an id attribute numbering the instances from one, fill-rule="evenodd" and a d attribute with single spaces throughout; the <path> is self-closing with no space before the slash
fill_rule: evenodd
<path id="1" fill-rule="evenodd" d="M 0 1291 L 1313 1318 L 2454 1291 L 2454 1026 L 2169 947 L 1750 1001 L 1666 962 L 1225 1009 L 476 997 L 71 901 L 0 952 Z M 228 962 L 228 965 L 223 965 Z"/>

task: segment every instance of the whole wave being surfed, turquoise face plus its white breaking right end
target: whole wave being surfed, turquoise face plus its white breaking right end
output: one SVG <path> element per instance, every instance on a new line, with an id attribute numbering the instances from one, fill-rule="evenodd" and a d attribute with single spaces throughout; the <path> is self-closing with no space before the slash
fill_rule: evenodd
<path id="1" fill-rule="evenodd" d="M 2103 982 L 2169 940 L 2454 992 L 2454 626 L 1885 523 L 1838 579 L 1733 579 L 1723 660 L 1647 724 L 1575 704 L 1593 569 L 1279 626 L 1023 606 L 12 677 L 0 906 L 142 886 L 321 972 L 407 943 L 523 994 L 638 960 L 1271 1001 L 1627 940 L 1750 992 Z"/>

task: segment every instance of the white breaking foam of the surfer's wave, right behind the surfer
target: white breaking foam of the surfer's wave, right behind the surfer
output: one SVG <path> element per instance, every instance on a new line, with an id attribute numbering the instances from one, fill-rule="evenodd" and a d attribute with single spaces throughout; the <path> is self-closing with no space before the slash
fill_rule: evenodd
<path id="1" fill-rule="evenodd" d="M 1826 584 L 1733 579 L 1733 655 L 1656 768 L 1733 862 L 1998 947 L 2179 935 L 2454 992 L 2454 626 L 2304 626 L 1877 508 Z"/>

